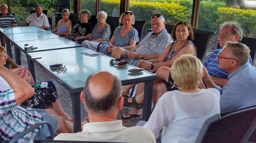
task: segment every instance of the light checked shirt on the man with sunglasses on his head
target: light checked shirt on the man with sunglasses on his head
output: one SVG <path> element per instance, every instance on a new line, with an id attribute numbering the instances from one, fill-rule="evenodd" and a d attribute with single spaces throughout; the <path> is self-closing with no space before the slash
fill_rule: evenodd
<path id="1" fill-rule="evenodd" d="M 138 47 L 135 52 L 140 54 L 162 54 L 164 49 L 172 43 L 173 40 L 167 30 L 164 29 L 157 36 L 154 36 L 153 32 L 149 32 L 141 41 L 140 47 Z M 139 59 L 133 59 L 129 64 L 137 66 Z"/>

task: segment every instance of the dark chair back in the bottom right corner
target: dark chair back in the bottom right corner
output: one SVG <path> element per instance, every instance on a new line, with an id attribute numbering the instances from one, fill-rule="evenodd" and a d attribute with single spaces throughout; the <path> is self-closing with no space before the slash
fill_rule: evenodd
<path id="1" fill-rule="evenodd" d="M 246 143 L 255 128 L 256 107 L 216 114 L 205 121 L 195 143 Z"/>

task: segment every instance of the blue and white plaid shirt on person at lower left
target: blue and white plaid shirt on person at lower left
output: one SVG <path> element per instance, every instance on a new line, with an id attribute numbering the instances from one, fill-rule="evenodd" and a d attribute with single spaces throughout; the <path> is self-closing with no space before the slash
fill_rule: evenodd
<path id="1" fill-rule="evenodd" d="M 15 134 L 28 129 L 35 123 L 42 121 L 42 116 L 36 110 L 16 104 L 14 91 L 0 91 L 0 142 L 10 141 Z M 20 138 L 17 142 L 32 142 L 39 130 L 35 129 Z"/>

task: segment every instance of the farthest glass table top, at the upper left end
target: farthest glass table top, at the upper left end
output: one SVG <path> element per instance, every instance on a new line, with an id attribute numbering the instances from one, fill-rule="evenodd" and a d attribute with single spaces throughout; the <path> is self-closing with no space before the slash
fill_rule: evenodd
<path id="1" fill-rule="evenodd" d="M 21 27 L 8 27 L 0 28 L 4 34 L 18 34 L 18 33 L 36 33 L 36 32 L 45 32 L 45 29 L 41 29 L 37 26 L 21 26 Z"/>

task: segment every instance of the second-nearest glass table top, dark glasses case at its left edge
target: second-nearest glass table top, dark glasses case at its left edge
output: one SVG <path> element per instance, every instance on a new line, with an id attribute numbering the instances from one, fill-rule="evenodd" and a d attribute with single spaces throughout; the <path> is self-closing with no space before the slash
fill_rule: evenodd
<path id="1" fill-rule="evenodd" d="M 64 49 L 67 47 L 82 47 L 82 45 L 67 40 L 65 38 L 52 38 L 52 39 L 42 39 L 42 40 L 32 40 L 32 41 L 21 41 L 21 42 L 15 42 L 19 47 L 21 47 L 24 50 L 24 45 L 29 44 L 33 47 L 37 47 L 37 49 L 34 49 L 32 51 L 27 52 L 38 52 L 38 51 L 46 51 L 51 49 Z"/>

